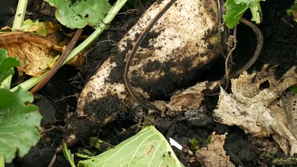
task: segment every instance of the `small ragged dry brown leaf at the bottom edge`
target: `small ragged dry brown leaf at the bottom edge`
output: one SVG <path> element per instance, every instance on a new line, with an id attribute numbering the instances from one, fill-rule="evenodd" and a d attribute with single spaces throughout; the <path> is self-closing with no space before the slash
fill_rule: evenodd
<path id="1" fill-rule="evenodd" d="M 211 143 L 207 147 L 196 150 L 195 155 L 200 164 L 204 167 L 235 167 L 223 147 L 226 134 L 216 135 L 215 132 L 212 132 Z"/>

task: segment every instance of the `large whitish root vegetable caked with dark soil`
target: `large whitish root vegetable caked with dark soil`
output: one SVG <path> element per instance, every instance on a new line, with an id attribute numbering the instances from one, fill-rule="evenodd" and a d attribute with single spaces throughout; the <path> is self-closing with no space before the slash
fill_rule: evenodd
<path id="1" fill-rule="evenodd" d="M 153 3 L 118 43 L 85 85 L 75 117 L 105 125 L 115 110 L 125 109 L 129 96 L 123 81 L 127 53 L 149 21 L 169 0 Z M 187 83 L 195 71 L 219 54 L 216 0 L 177 0 L 154 25 L 132 60 L 128 79 L 149 98 L 163 97 L 176 85 Z"/>

